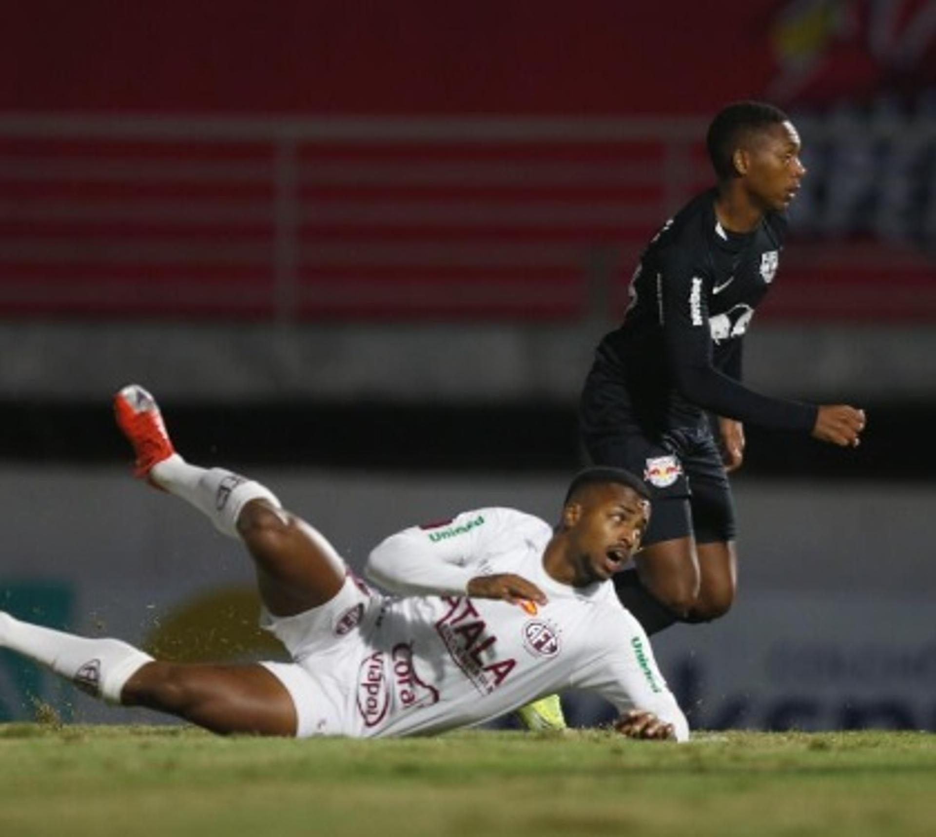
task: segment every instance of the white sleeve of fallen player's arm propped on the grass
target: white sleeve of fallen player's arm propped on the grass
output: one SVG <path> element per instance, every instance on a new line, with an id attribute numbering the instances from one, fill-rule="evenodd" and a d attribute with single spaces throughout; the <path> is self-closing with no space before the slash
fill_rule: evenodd
<path id="1" fill-rule="evenodd" d="M 632 709 L 655 714 L 672 724 L 676 740 L 689 740 L 689 722 L 669 690 L 640 623 L 624 609 L 602 609 L 601 629 L 595 629 L 595 653 L 577 672 L 574 685 L 595 691 L 620 712 Z"/>

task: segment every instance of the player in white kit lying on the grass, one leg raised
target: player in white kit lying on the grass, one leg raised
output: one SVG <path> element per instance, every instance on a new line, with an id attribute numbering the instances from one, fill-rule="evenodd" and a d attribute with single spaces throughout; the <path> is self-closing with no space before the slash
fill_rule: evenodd
<path id="1" fill-rule="evenodd" d="M 567 687 L 597 692 L 634 738 L 685 741 L 685 716 L 650 642 L 608 579 L 647 526 L 646 489 L 619 469 L 573 481 L 553 530 L 511 509 L 465 512 L 391 536 L 372 591 L 269 489 L 175 452 L 154 398 L 114 398 L 136 473 L 241 538 L 256 563 L 263 624 L 292 662 L 182 664 L 0 613 L 0 647 L 98 697 L 217 732 L 425 735 L 473 726 Z"/>

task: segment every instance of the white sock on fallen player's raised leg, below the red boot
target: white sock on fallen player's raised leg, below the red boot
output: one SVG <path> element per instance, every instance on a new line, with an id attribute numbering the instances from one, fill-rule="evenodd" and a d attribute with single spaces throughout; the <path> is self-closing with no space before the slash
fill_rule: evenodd
<path id="1" fill-rule="evenodd" d="M 280 501 L 264 485 L 223 468 L 204 469 L 189 465 L 173 454 L 154 465 L 150 479 L 169 494 L 183 498 L 208 516 L 214 527 L 231 538 L 239 537 L 237 519 L 251 500 L 263 498 L 281 509 Z"/>

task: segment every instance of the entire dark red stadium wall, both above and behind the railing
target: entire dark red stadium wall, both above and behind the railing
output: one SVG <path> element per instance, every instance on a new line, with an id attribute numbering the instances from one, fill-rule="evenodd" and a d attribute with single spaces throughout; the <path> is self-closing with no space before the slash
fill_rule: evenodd
<path id="1" fill-rule="evenodd" d="M 570 320 L 611 277 L 616 315 L 647 235 L 709 180 L 699 118 L 745 96 L 923 88 L 927 8 L 17 4 L 0 30 L 0 311 Z M 379 122 L 355 138 L 345 119 L 329 140 L 348 115 L 403 117 L 407 137 Z M 936 318 L 929 256 L 854 238 L 792 247 L 764 314 Z"/>

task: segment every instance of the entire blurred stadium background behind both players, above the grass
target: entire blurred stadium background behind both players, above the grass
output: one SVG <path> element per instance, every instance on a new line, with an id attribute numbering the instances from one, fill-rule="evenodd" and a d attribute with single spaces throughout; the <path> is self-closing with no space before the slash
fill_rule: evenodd
<path id="1" fill-rule="evenodd" d="M 236 546 L 129 478 L 129 381 L 189 458 L 249 469 L 358 566 L 466 507 L 551 519 L 636 255 L 709 184 L 711 113 L 760 97 L 811 174 L 747 378 L 869 429 L 856 452 L 749 429 L 739 603 L 655 645 L 699 726 L 936 729 L 936 3 L 5 17 L 0 606 L 267 653 Z M 0 657 L 0 718 L 29 694 L 135 717 Z"/>

